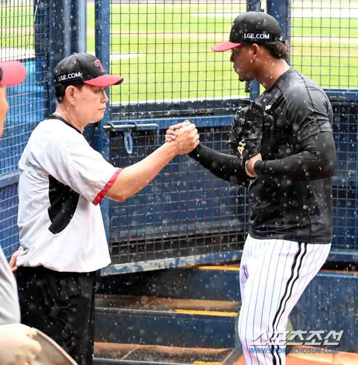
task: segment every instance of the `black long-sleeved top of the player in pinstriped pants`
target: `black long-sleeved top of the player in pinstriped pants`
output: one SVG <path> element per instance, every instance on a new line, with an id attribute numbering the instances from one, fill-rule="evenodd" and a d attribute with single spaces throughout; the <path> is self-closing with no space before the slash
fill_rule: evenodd
<path id="1" fill-rule="evenodd" d="M 236 156 L 202 145 L 189 155 L 216 176 L 249 185 L 252 237 L 331 243 L 331 176 L 337 156 L 326 94 L 316 82 L 289 69 L 257 101 L 275 124 L 263 132 L 256 179 L 249 182 Z"/>

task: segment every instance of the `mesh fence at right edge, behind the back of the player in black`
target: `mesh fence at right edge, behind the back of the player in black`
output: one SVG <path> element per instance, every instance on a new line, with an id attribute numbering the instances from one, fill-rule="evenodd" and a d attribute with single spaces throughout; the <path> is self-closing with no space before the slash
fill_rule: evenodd
<path id="1" fill-rule="evenodd" d="M 357 249 L 358 2 L 292 0 L 290 15 L 291 65 L 327 90 L 334 113 L 332 248 Z"/>

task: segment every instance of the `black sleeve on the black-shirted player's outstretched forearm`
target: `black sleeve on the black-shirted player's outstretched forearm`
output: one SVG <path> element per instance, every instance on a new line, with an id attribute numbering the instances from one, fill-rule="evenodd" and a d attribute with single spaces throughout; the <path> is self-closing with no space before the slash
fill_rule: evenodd
<path id="1" fill-rule="evenodd" d="M 200 144 L 188 156 L 220 179 L 244 187 L 249 186 L 250 179 L 243 172 L 237 156 L 217 152 Z"/>

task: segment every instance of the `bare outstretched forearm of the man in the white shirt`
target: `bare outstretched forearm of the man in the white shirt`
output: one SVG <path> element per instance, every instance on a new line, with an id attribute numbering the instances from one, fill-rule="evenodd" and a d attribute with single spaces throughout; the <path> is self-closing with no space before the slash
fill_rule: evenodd
<path id="1" fill-rule="evenodd" d="M 175 155 L 174 148 L 168 143 L 164 144 L 142 161 L 123 169 L 106 196 L 112 200 L 124 201 L 138 193 L 158 175 Z"/>

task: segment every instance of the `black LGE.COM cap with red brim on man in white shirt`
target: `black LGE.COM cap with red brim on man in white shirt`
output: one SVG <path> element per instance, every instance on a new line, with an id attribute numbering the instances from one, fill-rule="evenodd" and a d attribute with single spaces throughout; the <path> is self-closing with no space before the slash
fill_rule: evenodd
<path id="1" fill-rule="evenodd" d="M 74 53 L 64 58 L 55 67 L 54 76 L 56 89 L 81 82 L 103 87 L 123 82 L 123 77 L 106 74 L 101 61 L 89 53 Z"/>

